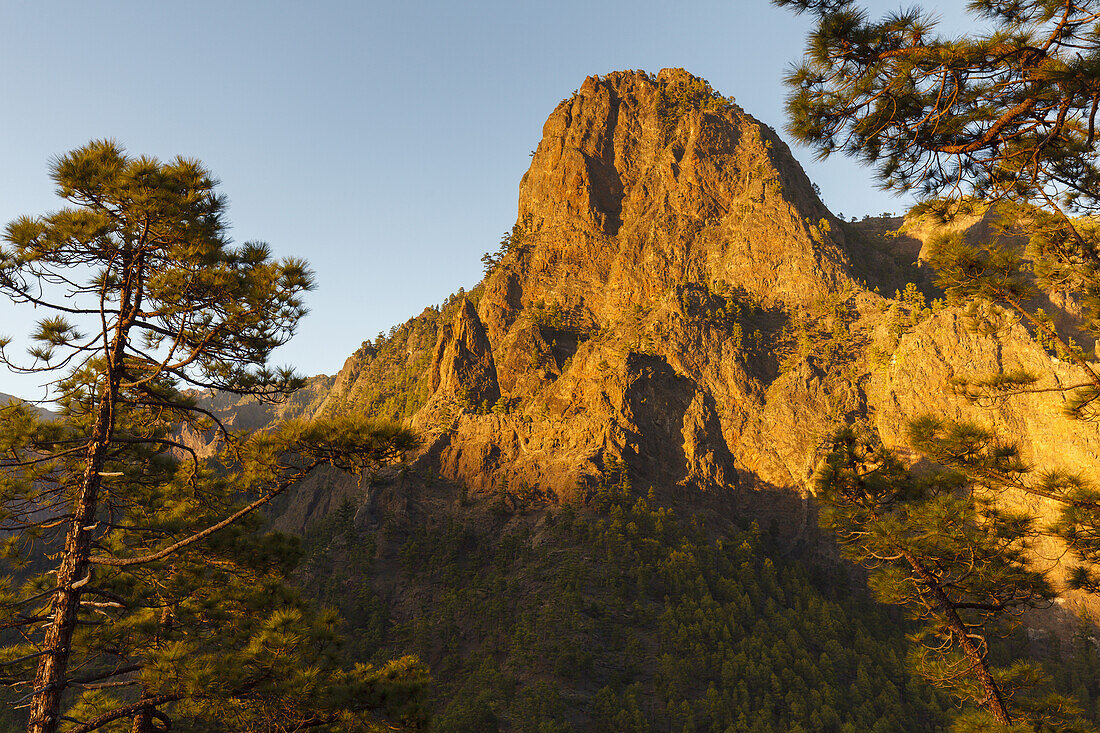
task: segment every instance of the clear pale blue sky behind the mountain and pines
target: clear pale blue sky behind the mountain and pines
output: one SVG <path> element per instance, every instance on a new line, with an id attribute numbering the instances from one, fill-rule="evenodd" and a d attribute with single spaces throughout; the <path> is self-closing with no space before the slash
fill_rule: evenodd
<path id="1" fill-rule="evenodd" d="M 682 66 L 781 130 L 807 28 L 767 0 L 0 0 L 0 223 L 56 208 L 48 160 L 95 138 L 198 157 L 238 241 L 310 261 L 312 313 L 278 361 L 331 374 L 477 282 L 543 121 L 585 76 Z M 905 206 L 850 162 L 795 155 L 834 212 Z M 0 303 L 0 333 L 36 315 Z M 36 383 L 0 374 L 0 392 Z"/>

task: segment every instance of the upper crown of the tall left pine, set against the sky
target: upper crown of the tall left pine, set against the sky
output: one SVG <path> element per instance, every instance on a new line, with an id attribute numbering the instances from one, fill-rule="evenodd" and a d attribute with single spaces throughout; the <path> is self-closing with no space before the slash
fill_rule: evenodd
<path id="1" fill-rule="evenodd" d="M 135 286 L 127 274 L 140 270 L 133 343 L 145 353 L 172 350 L 166 360 L 144 361 L 199 387 L 275 395 L 300 386 L 289 371 L 264 364 L 304 315 L 301 296 L 312 288 L 312 273 L 301 260 L 273 260 L 263 242 L 233 247 L 226 199 L 198 162 L 131 157 L 114 141 L 94 141 L 59 156 L 52 176 L 70 206 L 10 222 L 0 248 L 3 293 L 53 314 L 32 335 L 41 344 L 32 353 L 34 369 L 65 364 L 55 357 L 72 354 L 85 327 L 99 329 L 99 298 L 117 315 Z M 87 280 L 64 294 L 51 287 L 80 266 L 102 270 L 81 273 Z M 63 296 L 68 300 L 55 299 Z M 87 316 L 96 320 L 69 320 Z M 95 349 L 77 353 L 76 363 L 106 357 Z"/>

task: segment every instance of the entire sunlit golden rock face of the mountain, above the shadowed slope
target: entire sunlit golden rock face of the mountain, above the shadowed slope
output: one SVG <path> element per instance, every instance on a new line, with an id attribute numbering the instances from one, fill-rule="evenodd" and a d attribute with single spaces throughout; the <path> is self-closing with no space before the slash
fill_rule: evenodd
<path id="1" fill-rule="evenodd" d="M 411 415 L 417 466 L 473 495 L 573 497 L 607 459 L 676 494 L 805 494 L 840 422 L 900 442 L 924 409 L 1097 464 L 1057 397 L 991 413 L 945 389 L 1010 354 L 1057 369 L 1022 328 L 979 337 L 871 292 L 928 282 L 935 228 L 900 223 L 838 221 L 772 130 L 683 70 L 588 77 L 546 122 L 495 269 L 350 358 L 320 409 Z M 416 396 L 380 409 L 382 384 Z"/>

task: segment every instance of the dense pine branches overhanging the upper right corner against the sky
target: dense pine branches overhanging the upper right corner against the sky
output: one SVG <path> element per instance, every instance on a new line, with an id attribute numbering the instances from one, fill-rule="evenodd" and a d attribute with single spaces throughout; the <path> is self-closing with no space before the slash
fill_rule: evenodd
<path id="1" fill-rule="evenodd" d="M 774 2 L 815 17 L 787 109 L 823 155 L 853 155 L 925 198 L 968 186 L 979 199 L 1096 205 L 1093 3 L 978 0 L 974 31 L 942 35 L 920 7 L 873 21 L 855 0 Z"/>

